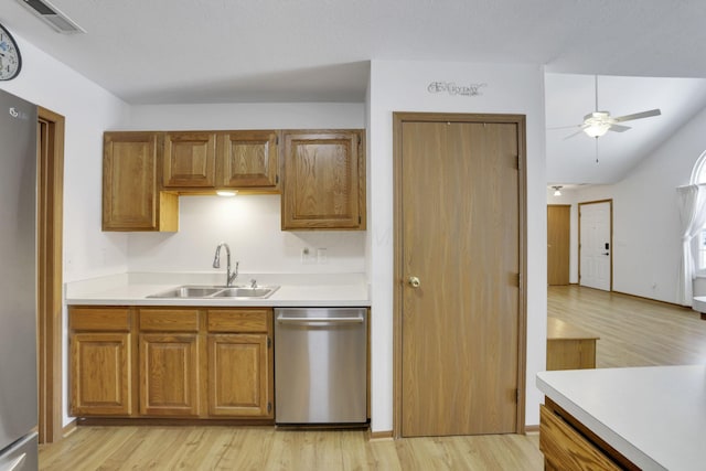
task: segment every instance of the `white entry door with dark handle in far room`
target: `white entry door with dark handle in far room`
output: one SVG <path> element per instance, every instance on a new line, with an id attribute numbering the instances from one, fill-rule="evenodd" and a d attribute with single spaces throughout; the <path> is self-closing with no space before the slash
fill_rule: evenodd
<path id="1" fill-rule="evenodd" d="M 579 283 L 611 290 L 612 202 L 579 204 Z"/>

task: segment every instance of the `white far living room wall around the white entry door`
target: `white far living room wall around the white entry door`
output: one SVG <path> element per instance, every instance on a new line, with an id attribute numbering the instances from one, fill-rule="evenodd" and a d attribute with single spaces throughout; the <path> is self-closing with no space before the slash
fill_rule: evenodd
<path id="1" fill-rule="evenodd" d="M 706 110 L 697 114 L 629 175 L 613 185 L 586 186 L 567 192 L 576 203 L 613 200 L 613 290 L 677 302 L 681 256 L 676 188 L 689 183 L 692 168 L 706 150 Z M 547 195 L 547 203 L 555 199 Z M 578 215 L 573 206 L 571 229 Z M 571 236 L 575 247 L 578 236 Z M 577 249 L 573 249 L 575 256 Z M 578 280 L 571 263 L 573 282 Z M 574 281 L 576 280 L 576 281 Z M 695 295 L 706 295 L 706 283 L 696 280 Z"/>

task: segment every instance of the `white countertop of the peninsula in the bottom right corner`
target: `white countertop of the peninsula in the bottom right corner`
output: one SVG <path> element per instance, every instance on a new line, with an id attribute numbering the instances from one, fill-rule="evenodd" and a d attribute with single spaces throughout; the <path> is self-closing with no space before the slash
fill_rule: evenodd
<path id="1" fill-rule="evenodd" d="M 706 465 L 706 365 L 542 372 L 536 384 L 644 470 Z"/>

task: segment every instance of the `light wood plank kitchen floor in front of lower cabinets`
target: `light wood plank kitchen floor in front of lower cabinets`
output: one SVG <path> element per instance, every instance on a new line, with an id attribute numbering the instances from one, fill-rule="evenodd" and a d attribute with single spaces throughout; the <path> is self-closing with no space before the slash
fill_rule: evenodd
<path id="1" fill-rule="evenodd" d="M 538 436 L 368 440 L 366 431 L 274 427 L 79 427 L 40 447 L 41 470 L 527 470 Z"/>

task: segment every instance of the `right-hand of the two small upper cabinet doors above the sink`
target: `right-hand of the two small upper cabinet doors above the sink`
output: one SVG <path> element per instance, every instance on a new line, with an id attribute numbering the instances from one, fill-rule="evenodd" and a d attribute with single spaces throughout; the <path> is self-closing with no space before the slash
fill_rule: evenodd
<path id="1" fill-rule="evenodd" d="M 278 143 L 276 131 L 220 133 L 217 188 L 277 192 Z"/>

